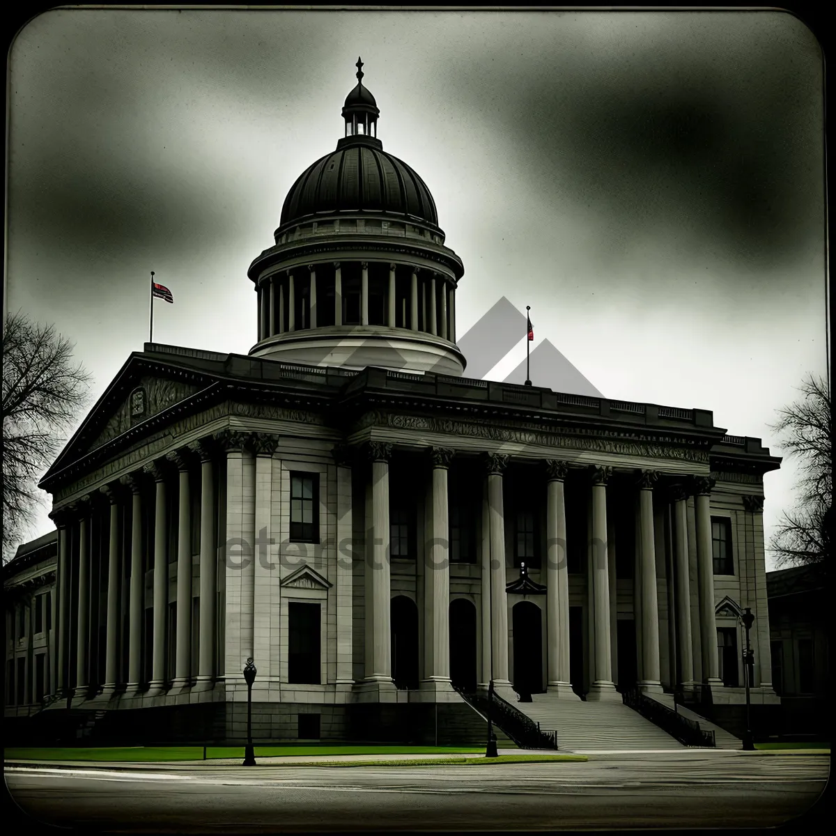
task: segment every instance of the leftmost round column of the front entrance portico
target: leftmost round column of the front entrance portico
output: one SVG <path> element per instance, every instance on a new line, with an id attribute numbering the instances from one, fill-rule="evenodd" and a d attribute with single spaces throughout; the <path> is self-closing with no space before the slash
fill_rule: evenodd
<path id="1" fill-rule="evenodd" d="M 389 460 L 392 446 L 371 441 L 371 526 L 366 532 L 366 680 L 390 683 L 392 677 L 390 624 Z"/>

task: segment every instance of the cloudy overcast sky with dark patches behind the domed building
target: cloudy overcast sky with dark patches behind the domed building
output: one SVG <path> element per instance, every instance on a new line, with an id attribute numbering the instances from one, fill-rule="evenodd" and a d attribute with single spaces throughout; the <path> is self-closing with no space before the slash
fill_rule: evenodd
<path id="1" fill-rule="evenodd" d="M 148 339 L 150 270 L 155 341 L 246 354 L 247 267 L 358 55 L 465 264 L 458 334 L 529 304 L 604 395 L 780 455 L 826 357 L 822 59 L 785 13 L 43 13 L 10 59 L 7 308 L 74 340 L 94 398 Z M 767 536 L 796 479 L 767 474 Z"/>

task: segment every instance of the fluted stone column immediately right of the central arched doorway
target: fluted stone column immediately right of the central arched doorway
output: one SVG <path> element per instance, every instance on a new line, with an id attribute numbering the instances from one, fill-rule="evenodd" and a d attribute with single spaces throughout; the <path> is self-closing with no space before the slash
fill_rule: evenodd
<path id="1" fill-rule="evenodd" d="M 565 461 L 546 467 L 546 660 L 548 692 L 578 699 L 569 681 L 569 575 L 566 562 Z"/>

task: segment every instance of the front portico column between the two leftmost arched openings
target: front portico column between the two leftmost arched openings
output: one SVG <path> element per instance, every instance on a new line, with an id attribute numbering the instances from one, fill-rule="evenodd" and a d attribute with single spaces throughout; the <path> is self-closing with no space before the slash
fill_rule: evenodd
<path id="1" fill-rule="evenodd" d="M 424 671 L 422 688 L 450 691 L 450 523 L 447 468 L 454 451 L 431 447 L 429 511 L 430 542 L 424 569 Z"/>

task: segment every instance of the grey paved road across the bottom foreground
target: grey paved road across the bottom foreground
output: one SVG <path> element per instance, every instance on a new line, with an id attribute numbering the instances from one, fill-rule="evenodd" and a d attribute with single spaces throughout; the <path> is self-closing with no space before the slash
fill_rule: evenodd
<path id="1" fill-rule="evenodd" d="M 768 827 L 822 793 L 829 758 L 670 752 L 490 767 L 7 768 L 42 822 L 122 833 Z"/>

